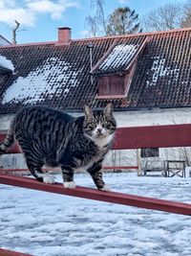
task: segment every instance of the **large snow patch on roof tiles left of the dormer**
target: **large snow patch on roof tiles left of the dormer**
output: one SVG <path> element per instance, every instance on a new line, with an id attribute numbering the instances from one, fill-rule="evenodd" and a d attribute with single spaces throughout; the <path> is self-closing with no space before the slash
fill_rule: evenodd
<path id="1" fill-rule="evenodd" d="M 71 70 L 69 62 L 58 58 L 47 58 L 44 63 L 30 72 L 27 77 L 19 77 L 6 90 L 2 104 L 24 101 L 25 105 L 43 102 L 45 98 L 69 93 L 78 84 L 78 71 Z M 55 82 L 56 81 L 56 82 Z"/>

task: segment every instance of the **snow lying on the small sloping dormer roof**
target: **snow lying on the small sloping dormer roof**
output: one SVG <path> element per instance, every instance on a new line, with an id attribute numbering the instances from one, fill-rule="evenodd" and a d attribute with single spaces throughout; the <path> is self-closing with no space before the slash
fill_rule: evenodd
<path id="1" fill-rule="evenodd" d="M 113 69 L 117 66 L 124 65 L 130 60 L 138 49 L 138 45 L 135 44 L 119 44 L 111 52 L 111 54 L 100 65 L 100 70 L 106 70 L 108 68 Z"/>

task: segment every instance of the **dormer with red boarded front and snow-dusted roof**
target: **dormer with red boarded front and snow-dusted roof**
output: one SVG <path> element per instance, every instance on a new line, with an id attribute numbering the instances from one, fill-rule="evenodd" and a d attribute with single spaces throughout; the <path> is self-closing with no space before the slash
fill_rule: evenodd
<path id="1" fill-rule="evenodd" d="M 136 70 L 138 55 L 147 41 L 148 37 L 137 44 L 115 42 L 99 59 L 91 72 L 98 77 L 96 99 L 127 96 Z"/>

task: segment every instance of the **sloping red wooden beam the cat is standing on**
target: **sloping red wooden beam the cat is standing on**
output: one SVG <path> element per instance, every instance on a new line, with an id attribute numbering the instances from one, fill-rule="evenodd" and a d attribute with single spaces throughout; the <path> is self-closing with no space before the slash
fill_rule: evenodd
<path id="1" fill-rule="evenodd" d="M 0 183 L 72 196 L 77 198 L 88 198 L 117 204 L 136 206 L 140 208 L 159 210 L 182 215 L 191 215 L 191 204 L 177 201 L 169 201 L 157 198 L 139 197 L 135 195 L 122 194 L 117 192 L 102 192 L 96 189 L 77 186 L 75 189 L 65 189 L 63 184 L 45 184 L 29 177 L 14 175 L 0 175 Z"/>

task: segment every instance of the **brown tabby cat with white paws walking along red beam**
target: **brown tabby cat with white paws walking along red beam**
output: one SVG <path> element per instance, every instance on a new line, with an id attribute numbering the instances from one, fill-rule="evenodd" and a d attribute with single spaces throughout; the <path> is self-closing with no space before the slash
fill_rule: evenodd
<path id="1" fill-rule="evenodd" d="M 53 176 L 43 173 L 42 167 L 60 167 L 64 187 L 73 189 L 74 171 L 83 168 L 97 189 L 107 191 L 101 166 L 117 128 L 113 111 L 112 104 L 102 110 L 85 105 L 85 115 L 74 118 L 45 106 L 24 107 L 12 119 L 7 137 L 0 144 L 0 154 L 16 140 L 37 180 L 53 184 Z"/>

